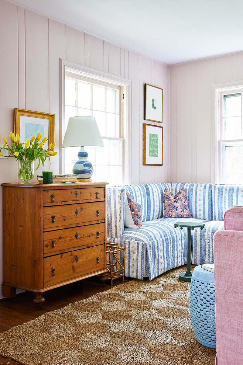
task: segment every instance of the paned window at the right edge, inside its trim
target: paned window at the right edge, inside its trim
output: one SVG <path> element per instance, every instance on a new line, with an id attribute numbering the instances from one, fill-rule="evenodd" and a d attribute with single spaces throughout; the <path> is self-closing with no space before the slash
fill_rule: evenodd
<path id="1" fill-rule="evenodd" d="M 243 89 L 219 92 L 219 182 L 243 184 Z"/>

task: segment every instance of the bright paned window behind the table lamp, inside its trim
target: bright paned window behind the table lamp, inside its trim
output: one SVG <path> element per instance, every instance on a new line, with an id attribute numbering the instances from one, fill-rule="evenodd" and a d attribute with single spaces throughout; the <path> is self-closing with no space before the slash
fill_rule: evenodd
<path id="1" fill-rule="evenodd" d="M 124 182 L 122 96 L 119 85 L 66 72 L 64 131 L 71 116 L 94 116 L 105 146 L 87 149 L 87 159 L 94 168 L 92 182 Z M 64 173 L 72 173 L 79 149 L 65 149 Z"/>

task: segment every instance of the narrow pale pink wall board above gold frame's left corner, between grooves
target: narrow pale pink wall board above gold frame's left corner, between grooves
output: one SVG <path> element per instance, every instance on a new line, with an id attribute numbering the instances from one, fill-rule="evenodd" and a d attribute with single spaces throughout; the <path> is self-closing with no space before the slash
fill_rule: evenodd
<path id="1" fill-rule="evenodd" d="M 26 109 L 25 105 L 25 77 L 26 77 L 26 62 L 25 62 L 25 10 L 18 6 L 18 82 L 19 82 L 19 100 L 18 108 Z"/>

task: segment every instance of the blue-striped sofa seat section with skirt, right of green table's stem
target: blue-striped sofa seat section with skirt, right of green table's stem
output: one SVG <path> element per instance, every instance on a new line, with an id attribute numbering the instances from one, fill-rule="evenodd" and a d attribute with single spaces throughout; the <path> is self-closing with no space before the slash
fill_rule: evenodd
<path id="1" fill-rule="evenodd" d="M 223 229 L 223 220 L 213 220 L 205 222 L 202 230 L 200 228 L 191 230 L 193 265 L 213 264 L 213 235 L 216 231 Z"/>

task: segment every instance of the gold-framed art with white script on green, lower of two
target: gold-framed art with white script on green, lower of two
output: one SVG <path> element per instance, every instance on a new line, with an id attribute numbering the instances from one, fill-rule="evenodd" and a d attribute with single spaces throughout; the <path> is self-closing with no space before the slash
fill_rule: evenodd
<path id="1" fill-rule="evenodd" d="M 163 127 L 144 123 L 143 165 L 163 165 Z"/>

